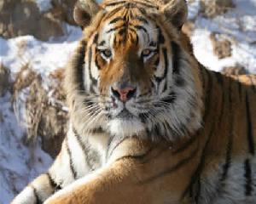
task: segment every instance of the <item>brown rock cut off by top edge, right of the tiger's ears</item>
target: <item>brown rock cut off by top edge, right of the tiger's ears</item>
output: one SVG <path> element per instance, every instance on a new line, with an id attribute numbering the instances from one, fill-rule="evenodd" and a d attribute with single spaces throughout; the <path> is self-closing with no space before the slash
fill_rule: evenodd
<path id="1" fill-rule="evenodd" d="M 201 14 L 207 18 L 214 18 L 219 14 L 224 14 L 234 7 L 232 0 L 201 0 Z"/>

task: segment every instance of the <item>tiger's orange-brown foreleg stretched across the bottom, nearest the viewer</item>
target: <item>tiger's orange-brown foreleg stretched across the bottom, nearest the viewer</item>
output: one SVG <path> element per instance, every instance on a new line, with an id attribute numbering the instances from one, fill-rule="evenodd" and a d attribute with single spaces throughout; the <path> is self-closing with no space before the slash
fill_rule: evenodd
<path id="1" fill-rule="evenodd" d="M 165 145 L 121 156 L 51 196 L 45 204 L 192 204 L 186 197 L 201 150 L 173 151 Z"/>

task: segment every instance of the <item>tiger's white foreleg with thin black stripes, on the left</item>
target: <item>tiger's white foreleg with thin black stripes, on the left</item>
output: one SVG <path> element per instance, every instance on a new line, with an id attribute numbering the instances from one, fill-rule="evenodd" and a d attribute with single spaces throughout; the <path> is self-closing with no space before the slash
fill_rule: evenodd
<path id="1" fill-rule="evenodd" d="M 79 148 L 72 128 L 70 128 L 62 143 L 61 152 L 53 165 L 49 167 L 49 171 L 28 184 L 11 204 L 42 203 L 57 190 L 61 190 L 61 188 L 73 183 L 74 180 L 83 177 L 90 171 L 89 161 L 86 160 L 85 156 L 83 150 Z"/>

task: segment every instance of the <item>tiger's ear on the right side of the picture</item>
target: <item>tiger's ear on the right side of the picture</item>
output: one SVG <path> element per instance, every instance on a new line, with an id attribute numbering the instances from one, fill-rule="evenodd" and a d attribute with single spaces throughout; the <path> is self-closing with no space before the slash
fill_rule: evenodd
<path id="1" fill-rule="evenodd" d="M 188 17 L 188 5 L 185 0 L 164 0 L 165 4 L 162 7 L 163 14 L 166 19 L 172 22 L 179 30 Z"/>

